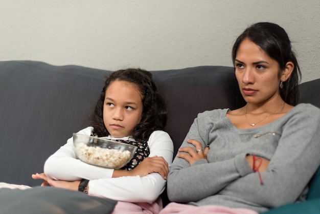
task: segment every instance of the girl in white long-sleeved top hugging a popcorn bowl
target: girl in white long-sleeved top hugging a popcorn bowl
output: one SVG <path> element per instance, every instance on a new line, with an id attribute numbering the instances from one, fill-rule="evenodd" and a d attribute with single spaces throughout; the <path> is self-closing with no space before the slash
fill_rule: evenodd
<path id="1" fill-rule="evenodd" d="M 166 105 L 150 72 L 127 69 L 113 72 L 96 104 L 91 125 L 78 132 L 138 144 L 133 159 L 121 169 L 81 162 L 73 138 L 44 164 L 44 173 L 32 175 L 47 184 L 81 190 L 119 201 L 113 213 L 157 213 L 172 162 L 173 143 L 163 131 Z"/>

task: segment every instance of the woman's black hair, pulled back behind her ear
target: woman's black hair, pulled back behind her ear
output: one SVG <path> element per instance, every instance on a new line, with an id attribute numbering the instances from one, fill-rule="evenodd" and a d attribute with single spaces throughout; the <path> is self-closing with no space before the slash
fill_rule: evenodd
<path id="1" fill-rule="evenodd" d="M 235 63 L 241 42 L 246 38 L 258 45 L 272 59 L 275 59 L 279 63 L 281 71 L 286 67 L 288 61 L 293 63 L 294 69 L 287 81 L 283 82 L 283 88 L 280 88 L 280 95 L 286 103 L 296 105 L 299 101 L 301 71 L 295 54 L 291 49 L 291 42 L 286 31 L 273 23 L 256 23 L 248 27 L 235 41 L 232 49 L 233 63 Z"/>

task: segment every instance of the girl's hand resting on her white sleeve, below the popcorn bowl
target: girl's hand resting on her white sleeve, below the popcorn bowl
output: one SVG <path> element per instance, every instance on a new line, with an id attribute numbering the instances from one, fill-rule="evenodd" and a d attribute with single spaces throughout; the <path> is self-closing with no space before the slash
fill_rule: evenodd
<path id="1" fill-rule="evenodd" d="M 130 171 L 125 170 L 114 170 L 112 177 L 120 177 L 120 176 L 140 176 L 144 177 L 151 173 L 160 174 L 165 180 L 167 180 L 167 176 L 169 173 L 169 166 L 167 161 L 163 157 L 147 157 L 145 158 L 138 166 L 134 167 L 134 169 Z"/>

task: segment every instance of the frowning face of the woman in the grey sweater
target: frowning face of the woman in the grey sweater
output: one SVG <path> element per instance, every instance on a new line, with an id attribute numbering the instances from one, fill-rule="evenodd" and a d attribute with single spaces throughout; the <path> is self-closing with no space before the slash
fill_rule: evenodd
<path id="1" fill-rule="evenodd" d="M 281 98 L 279 63 L 249 39 L 244 39 L 237 50 L 235 72 L 246 102 L 262 103 Z"/>

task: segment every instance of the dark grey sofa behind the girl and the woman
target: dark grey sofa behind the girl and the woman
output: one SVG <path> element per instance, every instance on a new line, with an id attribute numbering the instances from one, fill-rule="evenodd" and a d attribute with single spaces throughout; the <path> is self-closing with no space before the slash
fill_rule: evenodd
<path id="1" fill-rule="evenodd" d="M 109 73 L 38 61 L 1 61 L 0 182 L 39 185 L 40 181 L 33 180 L 31 174 L 41 173 L 44 161 L 72 133 L 87 126 L 103 79 Z M 167 100 L 166 131 L 173 139 L 175 153 L 197 113 L 236 109 L 245 104 L 231 67 L 201 66 L 152 74 Z M 300 102 L 320 107 L 320 79 L 302 83 L 300 89 Z M 167 203 L 166 195 L 163 197 Z M 271 209 L 269 213 L 281 209 L 281 213 L 294 213 L 292 210 L 299 211 L 299 207 L 309 209 L 304 213 L 319 213 L 319 206 L 318 170 L 307 202 Z"/>

